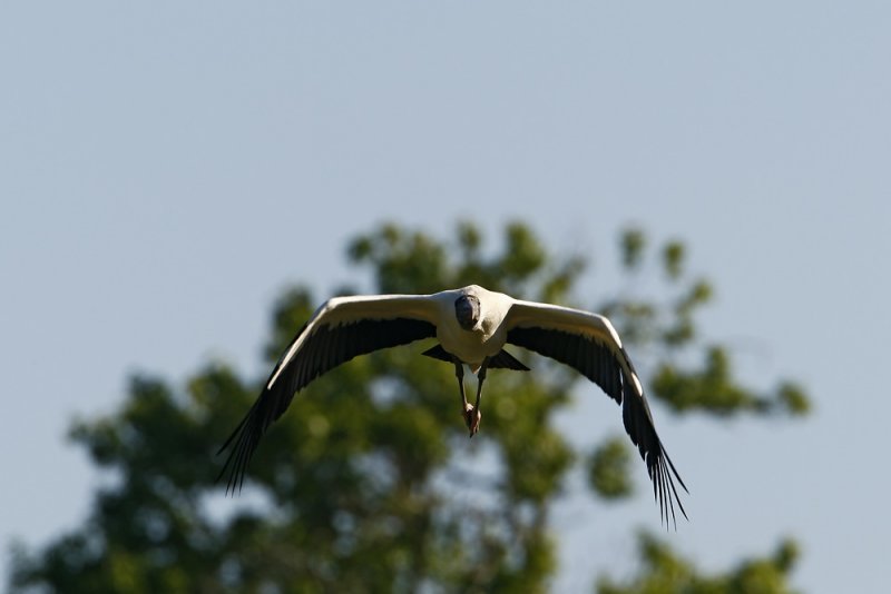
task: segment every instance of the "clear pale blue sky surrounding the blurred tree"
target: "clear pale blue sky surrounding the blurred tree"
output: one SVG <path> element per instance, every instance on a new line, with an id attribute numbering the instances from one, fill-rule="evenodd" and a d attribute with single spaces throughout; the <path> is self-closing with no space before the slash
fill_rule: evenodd
<path id="1" fill-rule="evenodd" d="M 3 2 L 0 545 L 86 517 L 74 417 L 112 410 L 137 370 L 264 374 L 273 299 L 355 284 L 355 234 L 519 218 L 593 256 L 593 305 L 638 224 L 688 241 L 717 288 L 706 338 L 738 347 L 746 382 L 815 403 L 804 422 L 656 406 L 693 493 L 667 537 L 718 570 L 792 535 L 796 586 L 878 591 L 889 31 L 878 1 Z M 596 388 L 578 400 L 591 430 L 619 426 Z M 570 496 L 555 525 L 576 588 L 626 575 L 629 527 L 659 527 L 647 497 Z"/>

